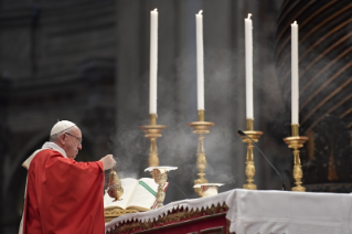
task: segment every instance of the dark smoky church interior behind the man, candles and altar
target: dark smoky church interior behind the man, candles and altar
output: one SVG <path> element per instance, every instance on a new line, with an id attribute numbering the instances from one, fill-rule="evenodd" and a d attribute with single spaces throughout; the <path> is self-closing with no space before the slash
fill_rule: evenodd
<path id="1" fill-rule="evenodd" d="M 253 14 L 254 129 L 290 189 L 290 23 L 299 24 L 300 135 L 308 191 L 352 192 L 351 1 L 1 0 L 1 233 L 17 233 L 26 171 L 21 163 L 57 119 L 83 131 L 77 161 L 114 153 L 120 178 L 149 177 L 150 11 L 159 10 L 158 139 L 160 164 L 190 196 L 196 179 L 195 14 L 203 10 L 205 136 L 210 182 L 220 191 L 246 182 L 244 19 Z M 280 180 L 254 149 L 255 183 Z M 74 180 L 74 178 L 73 178 Z M 166 203 L 184 196 L 171 183 Z"/>

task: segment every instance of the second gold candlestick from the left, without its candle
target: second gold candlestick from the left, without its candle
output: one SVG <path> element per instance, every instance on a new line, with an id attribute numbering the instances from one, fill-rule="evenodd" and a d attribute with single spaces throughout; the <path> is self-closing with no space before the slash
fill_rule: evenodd
<path id="1" fill-rule="evenodd" d="M 198 150 L 196 150 L 196 167 L 200 171 L 198 176 L 199 179 L 194 180 L 195 184 L 207 183 L 205 179 L 205 168 L 206 168 L 206 158 L 204 151 L 204 135 L 210 132 L 210 128 L 215 124 L 212 121 L 204 121 L 204 111 L 205 110 L 198 110 L 198 121 L 189 123 L 188 126 L 193 128 L 193 134 L 199 134 L 198 139 Z M 202 191 L 200 188 L 194 188 L 194 191 L 202 196 Z"/>

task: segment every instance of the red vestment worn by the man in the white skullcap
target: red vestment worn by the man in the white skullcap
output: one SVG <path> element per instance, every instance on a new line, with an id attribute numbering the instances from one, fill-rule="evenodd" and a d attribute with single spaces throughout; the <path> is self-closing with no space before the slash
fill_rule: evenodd
<path id="1" fill-rule="evenodd" d="M 39 152 L 29 170 L 24 233 L 104 233 L 103 189 L 100 161 Z"/>

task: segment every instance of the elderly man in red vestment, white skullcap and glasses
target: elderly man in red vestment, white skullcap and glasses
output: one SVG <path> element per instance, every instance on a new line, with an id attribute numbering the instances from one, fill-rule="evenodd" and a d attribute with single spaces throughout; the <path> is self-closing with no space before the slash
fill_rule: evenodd
<path id="1" fill-rule="evenodd" d="M 114 167 L 113 156 L 76 162 L 82 132 L 67 120 L 54 125 L 50 137 L 23 162 L 29 171 L 19 233 L 104 233 L 104 170 Z"/>

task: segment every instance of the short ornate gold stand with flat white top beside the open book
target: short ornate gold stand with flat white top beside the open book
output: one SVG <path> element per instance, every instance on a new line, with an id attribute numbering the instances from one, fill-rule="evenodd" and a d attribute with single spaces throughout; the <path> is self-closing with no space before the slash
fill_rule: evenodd
<path id="1" fill-rule="evenodd" d="M 171 170 L 177 170 L 178 167 L 168 167 L 168 166 L 160 166 L 160 167 L 149 167 L 145 171 L 150 171 L 152 177 L 158 183 L 158 192 L 157 192 L 157 208 L 161 208 L 163 204 L 163 200 L 166 199 L 164 192 L 164 184 L 168 181 L 168 172 Z"/>

